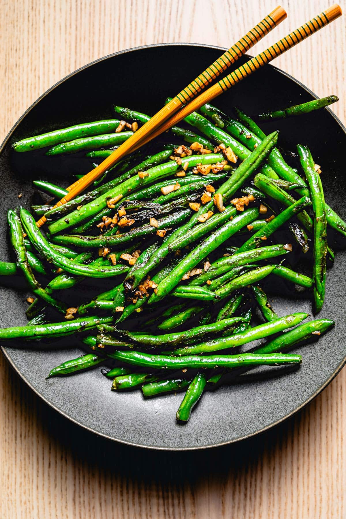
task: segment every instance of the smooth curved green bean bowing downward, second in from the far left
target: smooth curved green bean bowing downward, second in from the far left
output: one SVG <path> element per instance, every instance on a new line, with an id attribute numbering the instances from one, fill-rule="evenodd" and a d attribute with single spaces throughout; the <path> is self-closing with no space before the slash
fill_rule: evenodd
<path id="1" fill-rule="evenodd" d="M 123 265 L 115 265 L 114 267 L 90 267 L 89 265 L 81 265 L 68 260 L 68 258 L 58 254 L 52 247 L 50 247 L 48 241 L 43 237 L 39 229 L 36 227 L 34 218 L 31 216 L 29 211 L 21 208 L 20 216 L 25 227 L 25 231 L 32 243 L 35 245 L 36 249 L 46 258 L 47 261 L 53 263 L 57 267 L 63 268 L 71 274 L 93 278 L 117 276 L 128 270 L 128 267 Z"/>

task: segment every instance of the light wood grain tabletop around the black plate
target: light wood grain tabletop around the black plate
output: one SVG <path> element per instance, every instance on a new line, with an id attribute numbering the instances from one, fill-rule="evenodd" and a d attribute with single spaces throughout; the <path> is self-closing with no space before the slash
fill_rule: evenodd
<path id="1" fill-rule="evenodd" d="M 327 7 L 285 0 L 262 50 Z M 331 2 L 330 2 L 331 3 Z M 161 42 L 229 47 L 275 0 L 2 0 L 0 140 L 41 93 L 105 54 Z M 345 19 L 275 60 L 345 122 Z M 53 412 L 0 355 L 1 519 L 346 517 L 346 371 L 294 418 L 199 453 L 108 442 Z"/>

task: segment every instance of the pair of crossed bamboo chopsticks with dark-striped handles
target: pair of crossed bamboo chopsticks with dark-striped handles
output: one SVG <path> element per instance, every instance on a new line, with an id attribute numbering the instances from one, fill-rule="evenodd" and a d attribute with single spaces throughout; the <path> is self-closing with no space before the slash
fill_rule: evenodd
<path id="1" fill-rule="evenodd" d="M 294 47 L 303 39 L 319 31 L 325 25 L 341 16 L 341 14 L 340 6 L 334 4 L 199 94 L 199 92 L 212 83 L 217 76 L 222 74 L 231 64 L 243 56 L 248 49 L 259 42 L 262 37 L 286 18 L 286 11 L 281 6 L 276 7 L 268 16 L 255 25 L 251 31 L 246 33 L 236 44 L 214 61 L 212 65 L 207 67 L 207 69 L 186 88 L 179 92 L 175 98 L 163 106 L 159 112 L 151 117 L 151 119 L 139 128 L 127 141 L 121 144 L 112 155 L 109 155 L 98 167 L 67 187 L 68 193 L 54 207 L 62 206 L 68 200 L 72 200 L 122 157 L 143 146 L 143 144 L 154 139 L 160 133 L 168 130 L 177 124 L 177 122 L 184 119 L 184 117 L 198 110 L 203 104 L 211 101 L 233 85 L 236 85 L 239 81 L 280 56 L 286 50 Z M 40 227 L 45 222 L 46 218 L 43 216 L 36 222 L 36 225 Z"/>

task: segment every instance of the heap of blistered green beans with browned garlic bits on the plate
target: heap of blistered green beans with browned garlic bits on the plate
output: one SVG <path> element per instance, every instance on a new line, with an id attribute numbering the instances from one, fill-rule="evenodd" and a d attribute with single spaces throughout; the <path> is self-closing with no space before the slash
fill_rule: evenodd
<path id="1" fill-rule="evenodd" d="M 337 100 L 257 120 L 306 114 Z M 116 119 L 29 136 L 13 150 L 50 161 L 72 153 L 108 157 L 150 118 L 113 109 Z M 21 339 L 30 348 L 40 341 L 49 349 L 75 337 L 83 354 L 52 366 L 47 378 L 103 366 L 115 391 L 141 388 L 146 398 L 185 391 L 176 412 L 182 423 L 226 374 L 299 367 L 302 357 L 287 349 L 318 339 L 334 322 L 303 322 L 309 315 L 299 311 L 278 315 L 266 287 L 280 277 L 291 294 L 311 294 L 319 313 L 327 260 L 334 259 L 330 243 L 334 233 L 346 237 L 346 223 L 325 202 L 323 174 L 307 146 L 298 144 L 299 162 L 287 163 L 276 147 L 278 131 L 266 135 L 242 110 L 235 113 L 202 106 L 185 118 L 187 127 L 171 128 L 173 144 L 153 141 L 54 209 L 65 187 L 33 181 L 53 197 L 31 206 L 35 216 L 46 216 L 47 228 L 38 229 L 23 207 L 8 211 L 12 258 L 0 261 L 0 276 L 22 275 L 36 299 L 27 299 L 29 323 L 0 329 L 0 341 L 18 346 Z M 77 285 L 85 289 L 77 293 Z M 244 346 L 258 339 L 265 342 Z"/>

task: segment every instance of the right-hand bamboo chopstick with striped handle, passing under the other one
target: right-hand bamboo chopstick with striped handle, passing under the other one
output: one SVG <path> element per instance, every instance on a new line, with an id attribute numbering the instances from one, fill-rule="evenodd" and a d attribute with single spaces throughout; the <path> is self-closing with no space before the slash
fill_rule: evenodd
<path id="1" fill-rule="evenodd" d="M 238 69 L 234 70 L 223 79 L 220 79 L 214 86 L 205 90 L 196 99 L 191 101 L 188 105 L 184 106 L 181 110 L 179 110 L 179 112 L 177 112 L 168 121 L 161 125 L 160 128 L 158 128 L 150 135 L 147 135 L 146 138 L 143 139 L 141 143 L 132 151 L 135 151 L 164 131 L 167 131 L 169 128 L 184 119 L 184 117 L 187 117 L 192 112 L 198 110 L 198 108 L 203 106 L 203 104 L 209 103 L 212 99 L 215 99 L 218 95 L 236 85 L 247 76 L 250 76 L 250 74 L 260 69 L 260 67 L 266 65 L 273 59 L 286 52 L 286 50 L 289 50 L 298 43 L 302 42 L 303 39 L 306 39 L 308 36 L 311 36 L 311 34 L 319 31 L 325 25 L 334 21 L 341 15 L 342 11 L 340 6 L 338 4 L 334 4 L 323 11 L 320 15 L 317 15 L 310 21 L 304 23 L 298 29 L 280 39 L 279 42 L 274 43 L 274 45 L 264 50 L 263 52 L 260 52 L 257 56 L 244 63 L 244 65 L 241 65 Z"/>

